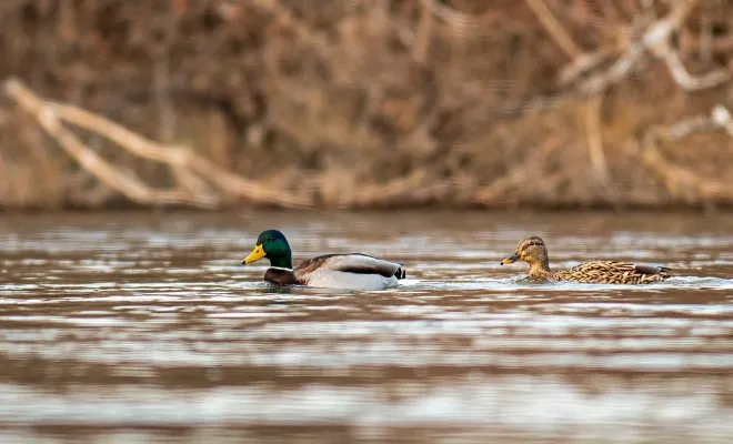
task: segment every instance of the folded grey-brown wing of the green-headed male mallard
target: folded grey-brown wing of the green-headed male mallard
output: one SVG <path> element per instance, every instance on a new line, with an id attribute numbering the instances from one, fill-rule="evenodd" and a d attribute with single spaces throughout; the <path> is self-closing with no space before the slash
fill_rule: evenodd
<path id="1" fill-rule="evenodd" d="M 384 278 L 403 279 L 402 264 L 384 261 L 361 253 L 324 254 L 301 262 L 295 268 L 297 274 L 307 275 L 314 271 L 340 271 L 355 274 L 380 274 Z"/>

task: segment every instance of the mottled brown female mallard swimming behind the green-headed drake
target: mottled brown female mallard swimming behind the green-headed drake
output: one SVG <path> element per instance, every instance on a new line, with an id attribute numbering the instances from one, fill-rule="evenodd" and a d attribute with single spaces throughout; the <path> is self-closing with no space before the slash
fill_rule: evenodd
<path id="1" fill-rule="evenodd" d="M 592 261 L 572 269 L 553 272 L 544 241 L 539 236 L 525 238 L 516 245 L 516 252 L 500 262 L 508 265 L 516 261 L 530 264 L 531 280 L 572 281 L 598 284 L 647 284 L 670 278 L 666 266 L 636 265 L 615 261 Z"/>

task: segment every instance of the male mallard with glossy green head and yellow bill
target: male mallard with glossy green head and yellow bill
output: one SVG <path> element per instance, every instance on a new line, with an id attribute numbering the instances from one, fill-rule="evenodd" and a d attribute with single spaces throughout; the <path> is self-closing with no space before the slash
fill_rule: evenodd
<path id="1" fill-rule="evenodd" d="M 324 254 L 293 269 L 290 245 L 278 230 L 263 231 L 243 264 L 270 260 L 264 280 L 277 285 L 308 285 L 323 289 L 383 290 L 404 279 L 402 264 L 360 253 Z"/>

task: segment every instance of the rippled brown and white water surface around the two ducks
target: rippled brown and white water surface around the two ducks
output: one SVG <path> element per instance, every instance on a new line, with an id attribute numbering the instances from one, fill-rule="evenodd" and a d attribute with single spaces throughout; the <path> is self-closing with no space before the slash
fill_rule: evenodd
<path id="1" fill-rule="evenodd" d="M 240 264 L 404 262 L 399 289 L 277 290 Z M 645 287 L 519 282 L 674 268 Z M 135 213 L 0 218 L 0 441 L 723 443 L 733 436 L 733 216 Z"/>

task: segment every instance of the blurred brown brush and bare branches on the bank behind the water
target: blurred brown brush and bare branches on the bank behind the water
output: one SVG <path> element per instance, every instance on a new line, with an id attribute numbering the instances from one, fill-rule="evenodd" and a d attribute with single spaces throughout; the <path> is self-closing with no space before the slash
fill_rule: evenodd
<path id="1" fill-rule="evenodd" d="M 0 205 L 731 205 L 732 17 L 719 0 L 3 1 Z"/>

